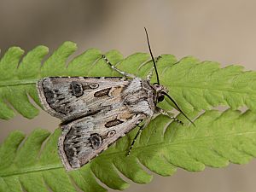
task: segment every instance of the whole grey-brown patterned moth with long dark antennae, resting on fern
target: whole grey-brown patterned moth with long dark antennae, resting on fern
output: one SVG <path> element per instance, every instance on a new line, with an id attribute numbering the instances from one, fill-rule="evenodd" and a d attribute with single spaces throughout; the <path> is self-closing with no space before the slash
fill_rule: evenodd
<path id="1" fill-rule="evenodd" d="M 123 77 L 47 77 L 38 81 L 38 96 L 44 110 L 61 119 L 58 152 L 67 171 L 84 166 L 140 125 L 129 155 L 139 133 L 160 113 L 182 123 L 157 107 L 166 96 L 183 113 L 167 94 L 166 87 L 160 84 L 146 28 L 145 32 L 154 63 L 147 79 L 120 71 L 102 55 L 109 67 Z M 150 83 L 153 70 L 157 77 L 155 84 Z"/>

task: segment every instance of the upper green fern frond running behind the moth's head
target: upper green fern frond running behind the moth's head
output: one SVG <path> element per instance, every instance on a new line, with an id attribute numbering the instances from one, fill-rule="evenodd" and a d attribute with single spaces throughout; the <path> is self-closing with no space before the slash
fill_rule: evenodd
<path id="1" fill-rule="evenodd" d="M 0 59 L 0 119 L 12 119 L 15 111 L 28 119 L 37 116 L 38 108 L 29 97 L 40 106 L 35 84 L 43 77 L 119 76 L 102 60 L 102 52 L 98 49 L 88 49 L 69 59 L 76 49 L 76 44 L 65 42 L 45 58 L 49 50 L 42 45 L 24 56 L 22 49 L 10 48 Z M 117 50 L 105 55 L 119 69 L 142 78 L 153 66 L 145 53 L 135 53 L 125 59 Z M 160 83 L 170 90 L 170 95 L 186 113 L 219 105 L 256 110 L 255 72 L 244 72 L 241 66 L 220 68 L 216 62 L 201 62 L 194 57 L 177 61 L 173 55 L 161 55 L 157 66 Z M 169 103 L 172 104 L 166 100 L 160 107 L 170 110 Z"/>

